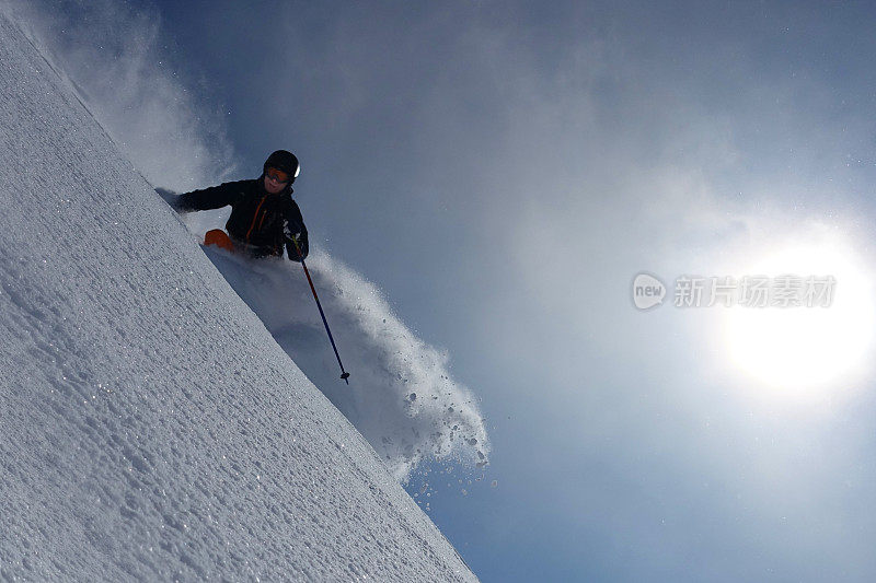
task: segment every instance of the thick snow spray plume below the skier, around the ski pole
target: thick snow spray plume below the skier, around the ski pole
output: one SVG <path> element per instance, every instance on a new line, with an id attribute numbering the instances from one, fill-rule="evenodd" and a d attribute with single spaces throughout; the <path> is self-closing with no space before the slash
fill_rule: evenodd
<path id="1" fill-rule="evenodd" d="M 420 462 L 451 455 L 471 466 L 487 464 L 489 444 L 474 397 L 450 377 L 447 354 L 407 329 L 372 283 L 320 249 L 309 257 L 338 348 L 355 371 L 347 387 L 337 382 L 337 363 L 297 265 L 209 248 L 207 255 L 397 480 L 407 482 Z"/>

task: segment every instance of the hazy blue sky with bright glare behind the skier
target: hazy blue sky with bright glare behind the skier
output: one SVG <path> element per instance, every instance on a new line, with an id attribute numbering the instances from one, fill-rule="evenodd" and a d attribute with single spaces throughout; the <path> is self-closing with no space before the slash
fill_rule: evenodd
<path id="1" fill-rule="evenodd" d="M 876 575 L 867 3 L 39 10 L 155 186 L 296 152 L 312 240 L 480 399 L 483 478 L 408 491 L 483 581 Z M 768 271 L 835 302 L 672 305 Z"/>

